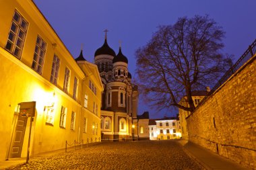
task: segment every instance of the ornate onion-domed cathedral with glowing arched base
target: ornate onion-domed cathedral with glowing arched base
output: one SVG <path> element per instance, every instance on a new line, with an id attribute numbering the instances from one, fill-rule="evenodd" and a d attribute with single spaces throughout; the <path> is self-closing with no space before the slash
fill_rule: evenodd
<path id="1" fill-rule="evenodd" d="M 102 139 L 118 141 L 132 137 L 143 138 L 138 135 L 139 93 L 137 85 L 131 83 L 128 59 L 123 55 L 121 47 L 119 53 L 115 54 L 108 46 L 105 35 L 104 44 L 94 54 L 94 62 L 98 66 L 104 86 L 101 107 Z"/>

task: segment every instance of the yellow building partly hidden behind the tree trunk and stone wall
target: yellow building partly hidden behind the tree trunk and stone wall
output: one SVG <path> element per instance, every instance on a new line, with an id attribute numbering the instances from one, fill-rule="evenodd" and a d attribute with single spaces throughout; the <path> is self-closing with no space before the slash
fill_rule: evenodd
<path id="1" fill-rule="evenodd" d="M 194 101 L 195 107 L 200 103 L 200 101 L 209 93 L 210 87 L 207 87 L 206 91 L 192 91 L 192 99 Z M 179 102 L 181 105 L 188 107 L 188 103 L 186 101 L 186 97 L 183 97 Z M 189 111 L 179 109 L 179 120 L 181 121 L 181 135 L 184 139 L 189 140 L 189 134 L 187 131 L 187 116 L 191 113 Z M 196 126 L 196 125 L 195 125 Z"/>

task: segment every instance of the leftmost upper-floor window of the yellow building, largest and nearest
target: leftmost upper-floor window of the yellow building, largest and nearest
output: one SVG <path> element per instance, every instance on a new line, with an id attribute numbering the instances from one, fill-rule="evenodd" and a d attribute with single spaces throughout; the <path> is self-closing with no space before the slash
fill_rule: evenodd
<path id="1" fill-rule="evenodd" d="M 18 13 L 14 11 L 11 28 L 7 39 L 5 48 L 11 52 L 15 57 L 20 59 L 22 48 L 28 30 L 28 22 Z"/>

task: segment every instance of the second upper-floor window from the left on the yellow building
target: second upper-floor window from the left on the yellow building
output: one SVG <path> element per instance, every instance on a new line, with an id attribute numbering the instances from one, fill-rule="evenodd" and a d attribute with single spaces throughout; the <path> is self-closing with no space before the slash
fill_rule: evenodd
<path id="1" fill-rule="evenodd" d="M 44 65 L 44 54 L 46 50 L 46 43 L 40 36 L 36 39 L 36 48 L 34 49 L 34 58 L 32 62 L 32 69 L 42 75 L 42 67 Z"/>

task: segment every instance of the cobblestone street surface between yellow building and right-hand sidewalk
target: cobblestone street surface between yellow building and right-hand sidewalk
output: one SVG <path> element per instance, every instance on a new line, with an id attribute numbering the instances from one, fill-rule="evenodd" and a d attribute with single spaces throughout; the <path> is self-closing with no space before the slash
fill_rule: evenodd
<path id="1" fill-rule="evenodd" d="M 103 142 L 10 169 L 201 169 L 173 140 Z"/>

